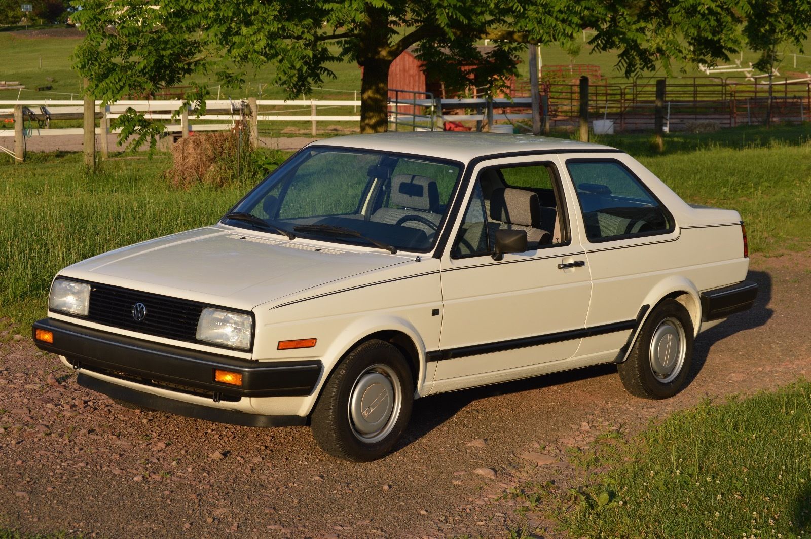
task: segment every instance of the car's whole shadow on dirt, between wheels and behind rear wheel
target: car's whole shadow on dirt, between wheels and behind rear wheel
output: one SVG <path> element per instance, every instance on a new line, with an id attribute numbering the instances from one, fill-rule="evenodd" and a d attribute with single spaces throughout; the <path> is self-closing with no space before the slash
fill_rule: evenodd
<path id="1" fill-rule="evenodd" d="M 758 286 L 757 300 L 755 300 L 753 308 L 744 313 L 732 315 L 719 326 L 710 328 L 710 330 L 706 330 L 698 336 L 693 347 L 693 372 L 688 383 L 693 382 L 693 379 L 701 372 L 710 354 L 710 349 L 715 343 L 719 343 L 724 338 L 740 331 L 763 326 L 772 317 L 774 311 L 767 307 L 771 301 L 772 278 L 770 274 L 762 271 L 750 271 L 747 279 L 757 282 Z M 568 382 L 588 380 L 611 373 L 616 373 L 615 364 L 600 364 L 417 399 L 414 401 L 414 410 L 409 428 L 400 438 L 395 451 L 430 433 L 431 430 L 436 429 L 455 416 L 462 408 L 476 400 L 487 399 L 496 395 L 511 395 L 528 390 L 559 386 Z"/>

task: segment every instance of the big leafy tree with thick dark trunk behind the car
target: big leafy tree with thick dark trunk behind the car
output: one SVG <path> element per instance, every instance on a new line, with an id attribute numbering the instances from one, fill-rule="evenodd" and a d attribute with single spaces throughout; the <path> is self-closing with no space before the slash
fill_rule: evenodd
<path id="1" fill-rule="evenodd" d="M 496 71 L 515 70 L 526 44 L 571 42 L 583 28 L 596 32 L 590 42 L 597 50 L 620 51 L 627 73 L 668 68 L 671 58 L 711 63 L 739 47 L 745 1 L 88 0 L 75 16 L 88 32 L 75 66 L 89 91 L 114 101 L 191 75 L 238 85 L 247 69 L 266 63 L 277 67 L 272 83 L 293 97 L 334 76 L 330 63 L 350 60 L 363 67 L 361 131 L 381 132 L 389 67 L 412 45 L 428 71 L 457 81 L 465 63 L 493 80 Z M 474 46 L 483 38 L 495 40 L 487 58 Z M 186 100 L 205 96 L 205 84 L 195 84 Z M 159 128 L 137 114 L 121 123 L 122 138 Z"/>

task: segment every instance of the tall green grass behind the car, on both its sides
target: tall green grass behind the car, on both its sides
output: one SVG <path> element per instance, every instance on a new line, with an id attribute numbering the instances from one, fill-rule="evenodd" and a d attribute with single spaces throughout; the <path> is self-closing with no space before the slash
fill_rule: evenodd
<path id="1" fill-rule="evenodd" d="M 808 127 L 736 128 L 667 138 L 604 137 L 625 149 L 684 200 L 737 209 L 752 252 L 811 245 Z M 217 222 L 251 187 L 169 188 L 167 157 L 105 162 L 86 175 L 79 154 L 30 153 L 15 166 L 0 155 L 0 318 L 28 324 L 45 313 L 54 274 L 129 244 Z M 255 179 L 258 181 L 258 178 Z"/>

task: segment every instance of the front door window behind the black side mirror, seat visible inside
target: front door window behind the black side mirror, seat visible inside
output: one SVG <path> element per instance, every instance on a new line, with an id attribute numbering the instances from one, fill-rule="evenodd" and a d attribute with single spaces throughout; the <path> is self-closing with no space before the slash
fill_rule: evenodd
<path id="1" fill-rule="evenodd" d="M 496 231 L 526 231 L 530 251 L 566 241 L 551 163 L 489 166 L 476 179 L 453 257 L 493 252 Z"/>

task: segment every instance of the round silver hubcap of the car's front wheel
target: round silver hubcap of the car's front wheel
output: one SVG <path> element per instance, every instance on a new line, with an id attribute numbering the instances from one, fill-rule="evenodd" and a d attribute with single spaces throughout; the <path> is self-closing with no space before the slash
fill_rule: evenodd
<path id="1" fill-rule="evenodd" d="M 402 390 L 397 373 L 388 365 L 372 365 L 352 386 L 349 405 L 352 432 L 362 442 L 380 442 L 394 428 L 401 407 Z"/>

